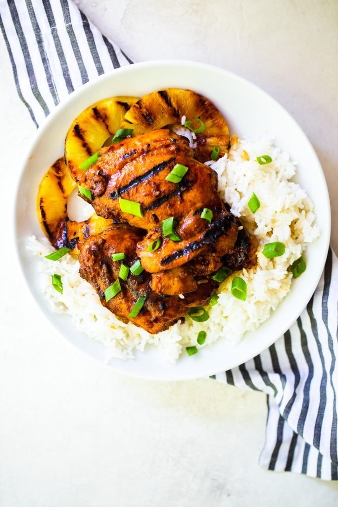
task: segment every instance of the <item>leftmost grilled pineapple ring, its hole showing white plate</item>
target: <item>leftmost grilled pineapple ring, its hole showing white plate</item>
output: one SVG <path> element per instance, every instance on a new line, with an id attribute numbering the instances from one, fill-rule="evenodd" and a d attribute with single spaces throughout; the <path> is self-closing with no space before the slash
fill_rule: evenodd
<path id="1" fill-rule="evenodd" d="M 67 202 L 76 186 L 64 159 L 60 158 L 41 180 L 37 193 L 37 216 L 55 248 L 66 246 L 72 249 L 72 253 L 79 255 L 87 237 L 102 232 L 112 225 L 112 220 L 97 216 L 94 210 L 93 215 L 84 222 L 69 220 Z"/>

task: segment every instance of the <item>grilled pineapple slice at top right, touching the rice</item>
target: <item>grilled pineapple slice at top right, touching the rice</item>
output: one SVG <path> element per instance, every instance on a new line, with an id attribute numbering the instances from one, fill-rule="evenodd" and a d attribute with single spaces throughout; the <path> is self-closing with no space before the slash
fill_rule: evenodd
<path id="1" fill-rule="evenodd" d="M 133 135 L 137 135 L 180 124 L 182 116 L 185 116 L 186 120 L 200 118 L 205 123 L 205 130 L 196 133 L 197 160 L 210 160 L 215 146 L 219 148 L 219 156 L 227 153 L 230 137 L 226 120 L 209 99 L 191 90 L 167 88 L 145 95 L 130 107 L 121 127 L 132 128 Z M 194 123 L 191 125 L 194 127 Z M 200 123 L 196 122 L 195 128 L 199 125 Z"/>

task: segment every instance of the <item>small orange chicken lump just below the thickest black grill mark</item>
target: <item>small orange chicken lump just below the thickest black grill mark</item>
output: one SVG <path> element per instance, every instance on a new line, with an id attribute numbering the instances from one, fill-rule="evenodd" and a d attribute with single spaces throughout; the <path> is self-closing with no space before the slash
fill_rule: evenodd
<path id="1" fill-rule="evenodd" d="M 158 294 L 168 296 L 194 292 L 198 287 L 193 272 L 188 266 L 154 273 L 150 286 Z"/>

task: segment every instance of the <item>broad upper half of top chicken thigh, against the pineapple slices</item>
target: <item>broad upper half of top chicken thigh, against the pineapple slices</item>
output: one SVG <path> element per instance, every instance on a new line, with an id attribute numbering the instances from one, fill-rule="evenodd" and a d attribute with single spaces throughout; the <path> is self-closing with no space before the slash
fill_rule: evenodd
<path id="1" fill-rule="evenodd" d="M 98 215 L 142 229 L 159 227 L 162 220 L 174 213 L 179 220 L 186 213 L 186 208 L 181 208 L 182 201 L 186 206 L 195 205 L 196 199 L 201 204 L 205 189 L 216 181 L 214 171 L 191 158 L 193 151 L 186 138 L 169 130 L 124 139 L 100 153 L 97 163 L 80 180 L 91 191 L 93 199 L 88 202 Z M 175 184 L 165 178 L 177 163 L 189 163 L 189 171 Z M 122 212 L 120 197 L 140 203 L 143 216 Z"/>

